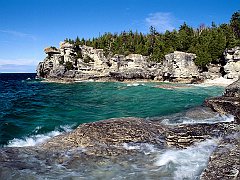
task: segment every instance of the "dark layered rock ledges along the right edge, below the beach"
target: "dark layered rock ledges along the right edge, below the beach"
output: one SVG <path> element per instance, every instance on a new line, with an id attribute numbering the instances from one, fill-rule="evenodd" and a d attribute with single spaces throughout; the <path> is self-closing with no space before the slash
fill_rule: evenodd
<path id="1" fill-rule="evenodd" d="M 229 85 L 223 96 L 207 99 L 205 104 L 221 114 L 234 115 L 237 133 L 228 133 L 228 136 L 223 136 L 202 174 L 202 179 L 239 179 L 240 79 Z"/>

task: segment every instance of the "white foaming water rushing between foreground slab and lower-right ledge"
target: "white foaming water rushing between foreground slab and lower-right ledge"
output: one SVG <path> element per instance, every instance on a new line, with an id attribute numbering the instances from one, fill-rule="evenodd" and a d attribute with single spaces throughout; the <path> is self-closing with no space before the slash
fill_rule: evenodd
<path id="1" fill-rule="evenodd" d="M 206 167 L 217 142 L 218 139 L 211 139 L 187 149 L 166 150 L 163 154 L 158 155 L 158 160 L 154 165 L 171 168 L 170 171 L 173 171 L 174 179 L 196 179 Z"/>

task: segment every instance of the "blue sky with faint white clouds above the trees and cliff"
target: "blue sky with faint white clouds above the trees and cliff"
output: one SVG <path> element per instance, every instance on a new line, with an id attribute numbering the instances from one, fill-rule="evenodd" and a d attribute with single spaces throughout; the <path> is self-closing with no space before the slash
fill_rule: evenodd
<path id="1" fill-rule="evenodd" d="M 228 23 L 239 0 L 0 0 L 0 73 L 35 72 L 65 38 Z"/>

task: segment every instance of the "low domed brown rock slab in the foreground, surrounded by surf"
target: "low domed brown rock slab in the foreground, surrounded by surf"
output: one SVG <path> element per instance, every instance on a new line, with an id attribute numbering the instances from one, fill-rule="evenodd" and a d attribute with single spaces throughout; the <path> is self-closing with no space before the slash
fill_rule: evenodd
<path id="1" fill-rule="evenodd" d="M 195 142 L 228 134 L 227 123 L 164 125 L 139 118 L 117 118 L 80 125 L 52 138 L 41 147 L 48 150 L 86 148 L 88 154 L 119 155 L 123 143 L 149 143 L 163 148 L 185 148 Z"/>

